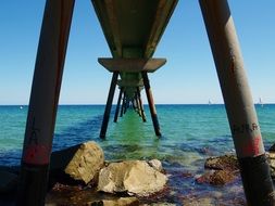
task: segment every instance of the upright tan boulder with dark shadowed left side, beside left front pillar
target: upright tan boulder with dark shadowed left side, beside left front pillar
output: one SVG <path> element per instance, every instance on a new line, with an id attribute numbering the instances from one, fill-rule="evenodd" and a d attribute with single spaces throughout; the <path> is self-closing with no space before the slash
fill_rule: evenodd
<path id="1" fill-rule="evenodd" d="M 85 183 L 97 177 L 104 164 L 102 149 L 93 141 L 85 142 L 51 155 L 51 171 L 62 170 Z"/>

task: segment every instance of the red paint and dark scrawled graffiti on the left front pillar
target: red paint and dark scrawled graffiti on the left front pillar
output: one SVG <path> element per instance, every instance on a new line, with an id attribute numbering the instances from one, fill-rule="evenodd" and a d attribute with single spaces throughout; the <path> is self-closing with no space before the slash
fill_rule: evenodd
<path id="1" fill-rule="evenodd" d="M 24 162 L 27 164 L 43 165 L 49 163 L 49 146 L 40 144 L 39 132 L 40 129 L 36 127 L 34 117 L 30 136 L 24 153 Z"/>

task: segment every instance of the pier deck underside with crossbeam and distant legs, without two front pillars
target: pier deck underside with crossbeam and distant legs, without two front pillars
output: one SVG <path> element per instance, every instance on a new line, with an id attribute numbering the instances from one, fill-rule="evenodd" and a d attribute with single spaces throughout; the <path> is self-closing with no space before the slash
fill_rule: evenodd
<path id="1" fill-rule="evenodd" d="M 99 63 L 109 72 L 118 74 L 117 77 L 113 76 L 115 79 L 110 87 L 100 137 L 105 138 L 107 134 L 116 86 L 124 93 L 122 110 L 127 111 L 132 104 L 143 120 L 143 105 L 140 105 L 142 100 L 138 93 L 146 89 L 154 132 L 160 137 L 160 125 L 147 73 L 155 72 L 166 62 L 151 57 L 177 0 L 91 0 L 91 2 L 113 55 L 113 59 L 99 59 Z M 118 101 L 117 107 L 120 104 Z M 117 121 L 116 116 L 114 121 Z"/>

